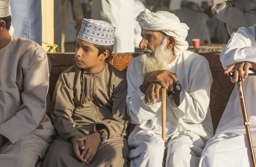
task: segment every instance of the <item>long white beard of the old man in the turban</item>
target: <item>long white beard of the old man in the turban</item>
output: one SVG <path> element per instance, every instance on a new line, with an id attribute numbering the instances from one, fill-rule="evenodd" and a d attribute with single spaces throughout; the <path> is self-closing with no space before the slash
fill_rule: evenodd
<path id="1" fill-rule="evenodd" d="M 165 70 L 167 68 L 167 65 L 175 55 L 173 50 L 168 51 L 165 49 L 167 41 L 167 38 L 163 40 L 163 43 L 156 49 L 153 56 L 148 56 L 145 53 L 141 55 L 140 64 L 144 76 L 152 71 Z"/>

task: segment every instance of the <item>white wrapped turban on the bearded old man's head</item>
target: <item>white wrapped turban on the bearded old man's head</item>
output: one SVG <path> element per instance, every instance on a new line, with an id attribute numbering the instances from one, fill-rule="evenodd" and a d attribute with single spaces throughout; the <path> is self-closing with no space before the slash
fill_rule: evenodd
<path id="1" fill-rule="evenodd" d="M 174 53 L 181 54 L 182 51 L 189 47 L 186 37 L 189 27 L 180 20 L 175 14 L 168 11 L 157 11 L 156 13 L 145 9 L 137 16 L 137 22 L 141 28 L 149 31 L 162 31 L 168 36 L 175 37 L 176 44 Z"/>

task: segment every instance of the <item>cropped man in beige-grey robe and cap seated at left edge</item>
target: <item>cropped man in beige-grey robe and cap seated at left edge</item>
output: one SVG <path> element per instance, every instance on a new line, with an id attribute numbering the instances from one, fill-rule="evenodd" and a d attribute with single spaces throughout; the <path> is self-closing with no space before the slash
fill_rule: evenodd
<path id="1" fill-rule="evenodd" d="M 9 0 L 0 0 L 0 166 L 35 167 L 54 135 L 48 59 L 37 43 L 10 36 L 10 26 Z"/>

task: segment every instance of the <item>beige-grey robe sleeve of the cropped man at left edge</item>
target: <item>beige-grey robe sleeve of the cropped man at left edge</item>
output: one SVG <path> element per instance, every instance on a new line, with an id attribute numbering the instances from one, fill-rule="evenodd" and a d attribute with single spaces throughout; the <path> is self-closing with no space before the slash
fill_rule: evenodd
<path id="1" fill-rule="evenodd" d="M 49 87 L 48 58 L 43 48 L 39 47 L 26 57 L 21 68 L 24 74 L 24 91 L 21 93 L 23 105 L 15 116 L 0 125 L 0 134 L 12 143 L 38 127 L 46 111 Z"/>

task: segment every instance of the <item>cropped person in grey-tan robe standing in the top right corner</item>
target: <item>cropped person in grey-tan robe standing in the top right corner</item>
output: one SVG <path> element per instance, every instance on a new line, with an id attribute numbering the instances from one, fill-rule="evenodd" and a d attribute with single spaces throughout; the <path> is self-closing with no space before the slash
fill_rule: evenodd
<path id="1" fill-rule="evenodd" d="M 213 0 L 212 14 L 227 24 L 228 33 L 250 27 L 256 20 L 255 0 Z"/>

